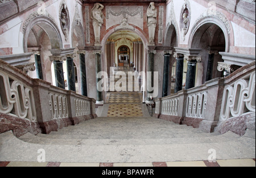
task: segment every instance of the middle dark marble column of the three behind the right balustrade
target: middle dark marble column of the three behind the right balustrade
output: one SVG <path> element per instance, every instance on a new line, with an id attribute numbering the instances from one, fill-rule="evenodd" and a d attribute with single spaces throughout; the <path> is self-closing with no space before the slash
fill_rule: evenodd
<path id="1" fill-rule="evenodd" d="M 184 55 L 179 53 L 174 53 L 176 58 L 176 78 L 175 78 L 175 93 L 182 90 L 183 86 L 183 65 L 184 65 Z"/>

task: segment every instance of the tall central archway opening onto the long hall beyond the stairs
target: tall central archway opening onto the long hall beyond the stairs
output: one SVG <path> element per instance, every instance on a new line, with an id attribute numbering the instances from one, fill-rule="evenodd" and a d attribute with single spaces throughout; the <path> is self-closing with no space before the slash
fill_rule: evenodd
<path id="1" fill-rule="evenodd" d="M 138 31 L 138 30 L 137 30 Z M 133 81 L 139 81 L 139 84 L 143 83 L 144 80 L 141 78 L 139 73 L 141 71 L 146 71 L 147 66 L 147 54 L 146 54 L 146 43 L 144 40 L 146 38 L 142 35 L 141 32 L 131 31 L 131 30 L 118 30 L 115 31 L 114 29 L 110 30 L 102 40 L 102 44 L 104 43 L 104 48 L 102 47 L 102 69 L 108 73 L 109 76 L 109 91 L 115 91 L 112 86 L 118 82 L 119 79 L 117 74 L 119 71 L 124 72 L 123 77 L 126 77 L 126 82 L 128 81 L 128 74 L 129 71 L 133 73 Z M 122 51 L 122 47 L 125 47 L 126 51 Z M 121 54 L 122 55 L 119 55 Z M 125 59 L 125 63 L 122 63 Z M 119 66 L 118 66 L 119 64 Z M 120 66 L 122 65 L 125 66 Z M 126 76 L 124 76 L 126 74 Z M 116 78 L 115 78 L 116 77 Z M 131 83 L 132 84 L 132 83 Z M 136 83 L 137 84 L 137 83 Z M 141 87 L 137 85 L 141 90 Z M 135 86 L 135 83 L 134 83 Z M 129 90 L 129 84 L 126 84 L 125 91 Z M 131 86 L 131 88 L 133 88 Z M 122 90 L 124 91 L 124 90 Z M 137 91 L 137 90 L 133 90 Z"/>

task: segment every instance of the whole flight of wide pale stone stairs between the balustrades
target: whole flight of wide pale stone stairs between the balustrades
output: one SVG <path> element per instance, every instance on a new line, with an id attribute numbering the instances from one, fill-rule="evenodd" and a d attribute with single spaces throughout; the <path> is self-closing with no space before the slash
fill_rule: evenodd
<path id="1" fill-rule="evenodd" d="M 255 138 L 204 133 L 153 117 L 98 117 L 48 135 L 0 134 L 0 161 L 146 163 L 255 158 Z"/>

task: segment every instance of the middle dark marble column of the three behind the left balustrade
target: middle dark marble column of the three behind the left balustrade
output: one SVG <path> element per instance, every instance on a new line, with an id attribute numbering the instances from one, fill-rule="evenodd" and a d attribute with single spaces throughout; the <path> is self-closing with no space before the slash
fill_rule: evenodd
<path id="1" fill-rule="evenodd" d="M 76 92 L 76 75 L 74 68 L 74 60 L 76 54 L 68 54 L 67 55 L 67 71 L 68 71 L 68 90 Z"/>

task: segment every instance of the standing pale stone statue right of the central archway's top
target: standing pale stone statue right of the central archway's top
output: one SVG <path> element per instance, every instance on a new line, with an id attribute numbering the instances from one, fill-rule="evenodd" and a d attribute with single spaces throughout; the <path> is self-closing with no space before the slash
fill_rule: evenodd
<path id="1" fill-rule="evenodd" d="M 147 9 L 147 26 L 149 35 L 149 44 L 155 45 L 155 28 L 156 28 L 156 17 L 158 16 L 158 11 L 156 10 L 155 3 L 151 2 Z"/>

